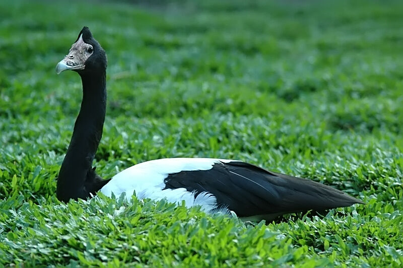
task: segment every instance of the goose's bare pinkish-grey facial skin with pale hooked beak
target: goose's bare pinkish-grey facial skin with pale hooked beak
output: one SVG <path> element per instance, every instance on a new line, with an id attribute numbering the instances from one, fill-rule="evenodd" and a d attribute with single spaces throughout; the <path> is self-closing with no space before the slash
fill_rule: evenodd
<path id="1" fill-rule="evenodd" d="M 60 74 L 65 70 L 84 70 L 86 60 L 92 55 L 94 48 L 83 40 L 83 35 L 80 35 L 76 43 L 70 48 L 67 54 L 56 65 L 56 73 Z"/>

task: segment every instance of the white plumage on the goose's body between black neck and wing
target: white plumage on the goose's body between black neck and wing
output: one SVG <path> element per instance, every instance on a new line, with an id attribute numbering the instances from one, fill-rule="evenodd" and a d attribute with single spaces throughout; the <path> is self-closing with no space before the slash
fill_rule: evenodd
<path id="1" fill-rule="evenodd" d="M 209 170 L 217 163 L 228 163 L 235 160 L 213 159 L 213 158 L 165 158 L 152 160 L 129 167 L 116 174 L 104 187 L 101 192 L 111 196 L 112 192 L 116 197 L 123 192 L 129 199 L 136 191 L 138 198 L 151 198 L 160 200 L 166 198 L 168 202 L 180 204 L 185 201 L 186 207 L 195 205 L 207 212 L 217 209 L 216 197 L 208 192 L 203 192 L 194 198 L 194 193 L 185 188 L 164 189 L 164 179 L 170 173 L 192 170 Z"/>

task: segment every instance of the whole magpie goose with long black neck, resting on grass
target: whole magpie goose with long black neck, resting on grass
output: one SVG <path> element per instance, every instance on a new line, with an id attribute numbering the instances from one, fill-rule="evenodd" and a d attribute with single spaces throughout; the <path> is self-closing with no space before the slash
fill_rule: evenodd
<path id="1" fill-rule="evenodd" d="M 57 177 L 61 202 L 87 199 L 97 192 L 110 197 L 133 193 L 139 199 L 166 199 L 207 213 L 225 213 L 252 221 L 304 211 L 364 204 L 347 193 L 315 182 L 272 172 L 243 161 L 213 158 L 165 158 L 143 162 L 101 178 L 92 167 L 106 113 L 105 50 L 84 27 L 56 73 L 77 72 L 83 98 L 70 145 Z"/>

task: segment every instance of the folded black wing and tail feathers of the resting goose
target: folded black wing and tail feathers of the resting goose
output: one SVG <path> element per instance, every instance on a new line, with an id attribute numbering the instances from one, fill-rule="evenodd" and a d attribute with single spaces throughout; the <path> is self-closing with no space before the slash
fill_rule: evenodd
<path id="1" fill-rule="evenodd" d="M 210 192 L 219 206 L 239 217 L 322 211 L 349 207 L 360 200 L 330 186 L 308 179 L 267 171 L 233 161 L 217 163 L 210 170 L 181 171 L 165 178 L 165 188 Z"/>

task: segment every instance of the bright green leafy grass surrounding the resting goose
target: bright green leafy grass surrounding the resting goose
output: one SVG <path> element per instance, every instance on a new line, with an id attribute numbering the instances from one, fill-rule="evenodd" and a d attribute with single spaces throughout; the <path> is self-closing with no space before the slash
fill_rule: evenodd
<path id="1" fill-rule="evenodd" d="M 401 267 L 403 5 L 152 3 L 0 2 L 0 266 Z M 82 93 L 54 68 L 84 25 L 108 54 L 101 176 L 232 158 L 367 204 L 253 226 L 136 198 L 59 203 Z"/>

